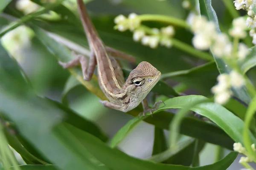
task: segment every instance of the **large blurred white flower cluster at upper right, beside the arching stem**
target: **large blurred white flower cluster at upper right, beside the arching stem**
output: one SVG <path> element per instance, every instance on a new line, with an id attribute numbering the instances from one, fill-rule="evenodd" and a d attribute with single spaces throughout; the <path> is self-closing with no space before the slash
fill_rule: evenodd
<path id="1" fill-rule="evenodd" d="M 216 26 L 212 21 L 207 21 L 204 16 L 192 16 L 188 20 L 191 25 L 192 32 L 195 36 L 192 43 L 195 48 L 207 50 L 212 47 L 212 52 L 219 58 L 238 58 L 243 60 L 249 52 L 249 49 L 244 43 L 239 43 L 239 49 L 236 56 L 232 56 L 233 45 L 229 37 L 224 33 L 216 31 Z M 233 20 L 233 28 L 229 34 L 232 37 L 244 38 L 246 36 L 246 23 L 243 17 Z"/>

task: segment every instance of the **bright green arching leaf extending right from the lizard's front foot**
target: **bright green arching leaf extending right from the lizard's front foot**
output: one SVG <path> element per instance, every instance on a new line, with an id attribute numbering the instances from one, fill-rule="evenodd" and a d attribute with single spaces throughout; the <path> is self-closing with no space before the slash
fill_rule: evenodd
<path id="1" fill-rule="evenodd" d="M 207 100 L 206 97 L 200 95 L 187 95 L 175 98 L 170 98 L 165 102 L 165 106 L 158 109 L 159 111 L 163 109 L 170 108 L 186 108 L 194 102 L 200 102 Z M 223 129 L 234 141 L 243 142 L 242 134 L 244 129 L 244 122 L 234 115 L 232 112 L 222 107 L 220 104 L 216 103 L 202 103 L 190 108 L 192 111 L 209 118 L 212 122 L 217 124 L 221 129 Z M 249 133 L 250 139 L 256 142 L 256 138 Z"/>

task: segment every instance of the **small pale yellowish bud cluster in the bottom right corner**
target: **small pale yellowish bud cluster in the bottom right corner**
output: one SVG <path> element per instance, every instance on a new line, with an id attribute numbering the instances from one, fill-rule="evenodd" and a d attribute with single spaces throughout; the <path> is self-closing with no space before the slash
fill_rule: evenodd
<path id="1" fill-rule="evenodd" d="M 255 144 L 251 145 L 252 150 L 255 152 Z M 247 150 L 242 146 L 242 144 L 240 142 L 234 143 L 233 144 L 233 150 L 238 152 L 238 153 L 242 153 L 245 156 L 242 156 L 239 160 L 239 163 L 244 165 L 244 167 L 251 169 L 250 165 L 248 164 L 248 162 L 252 162 L 253 160 L 250 158 Z"/>

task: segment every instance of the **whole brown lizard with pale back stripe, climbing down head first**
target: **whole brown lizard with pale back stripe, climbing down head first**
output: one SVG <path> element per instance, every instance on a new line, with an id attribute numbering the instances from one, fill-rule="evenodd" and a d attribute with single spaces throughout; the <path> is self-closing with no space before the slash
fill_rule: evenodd
<path id="1" fill-rule="evenodd" d="M 125 55 L 118 50 L 105 47 L 96 29 L 90 20 L 82 0 L 77 0 L 78 10 L 85 35 L 87 37 L 91 55 L 89 64 L 83 55 L 77 55 L 75 59 L 59 64 L 64 68 L 70 68 L 81 64 L 83 78 L 90 81 L 97 65 L 99 86 L 109 101 L 100 101 L 105 107 L 128 112 L 137 107 L 140 102 L 143 104 L 143 114 L 156 110 L 163 101 L 158 101 L 152 108 L 148 107 L 146 96 L 160 80 L 161 72 L 150 63 L 143 61 L 133 69 L 125 81 L 119 62 L 113 55 L 133 60 L 130 55 Z M 110 55 L 109 55 L 110 54 Z M 112 56 L 111 56 L 112 55 Z"/>

